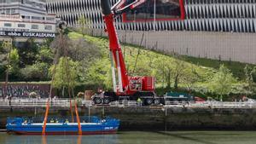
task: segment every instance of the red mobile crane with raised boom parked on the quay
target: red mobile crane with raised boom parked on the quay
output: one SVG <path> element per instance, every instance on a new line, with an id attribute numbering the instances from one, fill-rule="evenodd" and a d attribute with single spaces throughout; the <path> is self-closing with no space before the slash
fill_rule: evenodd
<path id="1" fill-rule="evenodd" d="M 109 38 L 109 53 L 112 67 L 113 92 L 103 92 L 94 95 L 92 100 L 96 104 L 108 104 L 111 101 L 137 101 L 141 99 L 143 105 L 159 104 L 160 99 L 154 94 L 154 77 L 131 77 L 125 67 L 125 60 L 119 44 L 119 38 L 114 26 L 114 16 L 134 9 L 145 0 L 136 0 L 124 7 L 123 0 L 110 7 L 109 0 L 101 0 L 103 19 Z M 113 64 L 114 61 L 114 64 Z M 115 66 L 114 66 L 115 65 Z M 116 75 L 117 71 L 117 75 Z M 118 81 L 116 80 L 118 78 Z"/>

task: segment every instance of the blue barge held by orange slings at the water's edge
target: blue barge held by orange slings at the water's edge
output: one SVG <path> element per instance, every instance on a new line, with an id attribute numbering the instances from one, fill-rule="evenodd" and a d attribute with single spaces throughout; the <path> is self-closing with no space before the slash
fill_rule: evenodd
<path id="1" fill-rule="evenodd" d="M 48 120 L 49 121 L 49 120 Z M 67 121 L 55 121 L 45 127 L 45 135 L 78 135 L 79 126 L 82 135 L 115 134 L 119 129 L 119 119 L 90 117 L 90 122 L 69 123 Z M 41 135 L 44 123 L 34 123 L 26 118 L 8 118 L 6 129 L 9 133 L 20 135 Z"/>

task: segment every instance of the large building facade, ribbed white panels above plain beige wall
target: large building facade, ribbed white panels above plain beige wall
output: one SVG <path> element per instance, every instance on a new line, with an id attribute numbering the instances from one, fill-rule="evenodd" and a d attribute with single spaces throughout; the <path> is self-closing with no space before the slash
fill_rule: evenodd
<path id="1" fill-rule="evenodd" d="M 119 40 L 166 54 L 256 64 L 256 0 L 184 0 L 183 3 L 184 20 L 154 23 L 116 19 Z M 84 15 L 91 20 L 92 35 L 106 36 L 100 0 L 47 0 L 46 7 L 69 26 L 77 26 L 79 17 Z"/>

